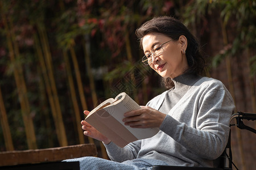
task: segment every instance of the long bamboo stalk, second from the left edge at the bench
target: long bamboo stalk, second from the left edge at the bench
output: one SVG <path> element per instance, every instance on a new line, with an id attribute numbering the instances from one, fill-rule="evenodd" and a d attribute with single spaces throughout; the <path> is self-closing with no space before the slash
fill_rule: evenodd
<path id="1" fill-rule="evenodd" d="M 15 42 L 14 33 L 12 31 L 9 31 L 10 29 L 9 29 L 9 25 L 6 20 L 6 16 L 3 14 L 2 14 L 2 19 L 3 19 L 3 24 L 5 25 L 5 31 L 6 31 L 6 36 L 7 36 L 7 46 L 10 51 L 11 63 L 13 63 L 13 65 L 15 65 L 14 78 L 15 78 L 16 86 L 18 88 L 18 96 L 19 96 L 19 101 L 20 101 L 20 107 L 22 110 L 22 118 L 23 118 L 23 122 L 24 122 L 28 148 L 36 149 L 37 146 L 36 146 L 35 130 L 34 130 L 32 118 L 30 117 L 30 108 L 29 108 L 28 99 L 27 99 L 26 84 L 24 81 L 22 68 L 15 61 L 15 53 L 17 56 L 19 56 L 18 45 Z M 10 24 L 11 24 L 11 22 L 10 22 Z M 11 42 L 11 40 L 13 40 L 13 42 Z"/>

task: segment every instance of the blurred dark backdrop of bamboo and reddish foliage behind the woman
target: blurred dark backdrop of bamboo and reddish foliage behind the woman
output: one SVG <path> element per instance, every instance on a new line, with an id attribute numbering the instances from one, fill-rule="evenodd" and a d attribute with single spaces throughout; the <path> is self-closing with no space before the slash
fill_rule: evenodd
<path id="1" fill-rule="evenodd" d="M 123 91 L 145 105 L 166 90 L 135 36 L 154 16 L 180 19 L 236 111 L 256 113 L 256 1 L 1 0 L 0 11 L 0 151 L 96 143 L 108 159 L 82 134 L 83 111 Z M 239 169 L 256 167 L 255 141 L 232 128 Z"/>

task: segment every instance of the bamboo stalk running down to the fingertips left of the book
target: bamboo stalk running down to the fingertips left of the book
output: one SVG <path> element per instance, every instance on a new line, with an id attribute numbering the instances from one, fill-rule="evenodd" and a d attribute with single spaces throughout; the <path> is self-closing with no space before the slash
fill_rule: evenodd
<path id="1" fill-rule="evenodd" d="M 85 100 L 84 90 L 82 88 L 83 86 L 82 86 L 81 74 L 80 74 L 79 64 L 77 62 L 76 53 L 75 53 L 73 46 L 71 46 L 69 48 L 69 50 L 71 52 L 71 58 L 72 58 L 73 65 L 75 68 L 76 82 L 77 82 L 77 86 L 78 86 L 78 90 L 79 90 L 79 96 L 80 96 L 80 100 L 81 100 L 81 104 L 82 104 L 82 110 L 87 111 L 88 107 L 87 107 L 86 100 Z M 94 143 L 93 138 L 88 137 L 88 141 L 89 141 L 89 143 Z"/>

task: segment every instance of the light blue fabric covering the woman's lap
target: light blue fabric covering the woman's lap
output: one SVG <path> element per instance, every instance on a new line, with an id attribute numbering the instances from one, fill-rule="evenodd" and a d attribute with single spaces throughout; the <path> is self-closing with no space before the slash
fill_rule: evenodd
<path id="1" fill-rule="evenodd" d="M 112 160 L 106 160 L 102 158 L 96 158 L 91 156 L 86 156 L 82 158 L 67 159 L 63 162 L 79 162 L 80 170 L 93 170 L 93 169 L 126 169 L 126 170 L 148 170 L 152 169 L 153 165 L 167 165 L 167 163 L 162 160 L 152 160 L 152 159 L 133 159 L 126 160 L 125 162 L 118 163 Z"/>

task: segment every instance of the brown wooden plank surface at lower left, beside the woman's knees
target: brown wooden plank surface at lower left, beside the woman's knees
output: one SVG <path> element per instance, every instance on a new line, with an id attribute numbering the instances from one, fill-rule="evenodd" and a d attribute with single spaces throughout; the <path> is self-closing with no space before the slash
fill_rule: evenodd
<path id="1" fill-rule="evenodd" d="M 0 169 L 6 166 L 24 164 L 41 164 L 61 162 L 61 160 L 97 156 L 94 144 L 82 144 L 38 150 L 0 152 Z M 67 164 L 68 165 L 68 164 Z M 67 168 L 67 167 L 66 167 Z"/>

